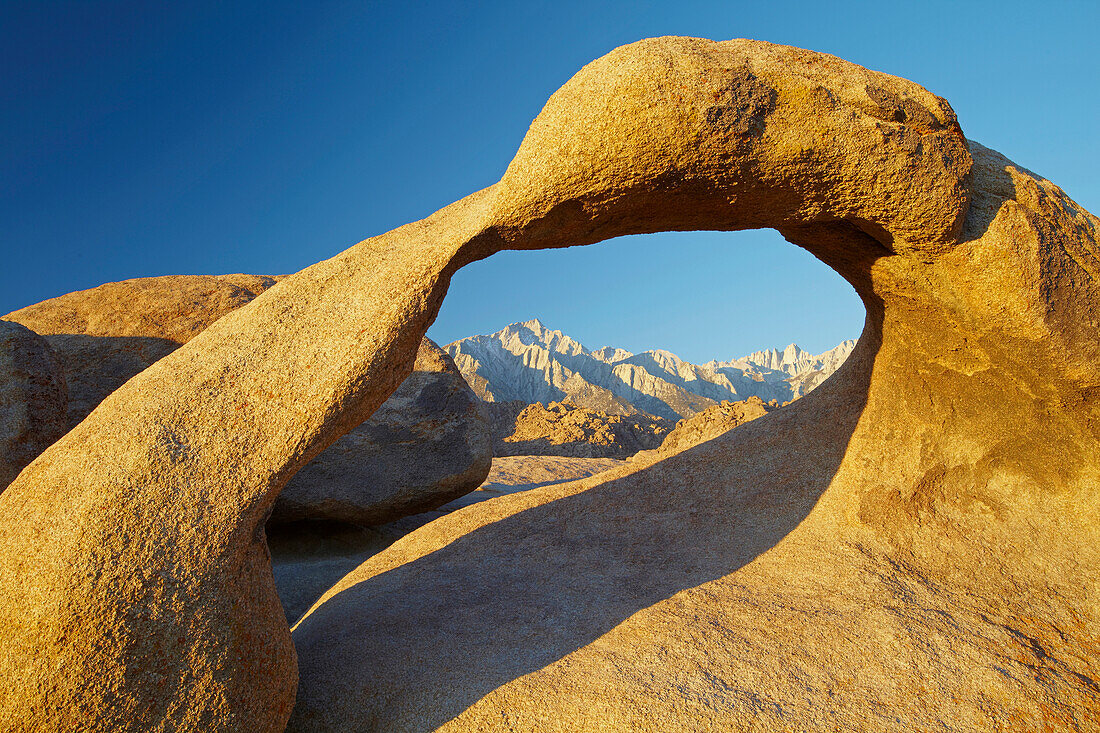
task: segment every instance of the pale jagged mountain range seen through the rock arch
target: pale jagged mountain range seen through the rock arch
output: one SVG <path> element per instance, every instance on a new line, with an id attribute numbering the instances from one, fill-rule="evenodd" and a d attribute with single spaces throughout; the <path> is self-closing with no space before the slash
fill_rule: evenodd
<path id="1" fill-rule="evenodd" d="M 590 351 L 535 319 L 454 341 L 446 350 L 486 402 L 570 400 L 613 415 L 644 412 L 680 419 L 723 400 L 801 397 L 835 372 L 855 346 L 847 340 L 811 354 L 792 343 L 782 351 L 693 364 L 662 350 Z"/>

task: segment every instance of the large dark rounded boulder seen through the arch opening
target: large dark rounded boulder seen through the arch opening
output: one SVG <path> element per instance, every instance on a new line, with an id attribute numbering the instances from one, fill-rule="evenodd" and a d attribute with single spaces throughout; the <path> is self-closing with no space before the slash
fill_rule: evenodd
<path id="1" fill-rule="evenodd" d="M 492 464 L 477 397 L 451 358 L 425 339 L 413 374 L 370 419 L 290 479 L 271 521 L 384 524 L 470 493 Z"/>

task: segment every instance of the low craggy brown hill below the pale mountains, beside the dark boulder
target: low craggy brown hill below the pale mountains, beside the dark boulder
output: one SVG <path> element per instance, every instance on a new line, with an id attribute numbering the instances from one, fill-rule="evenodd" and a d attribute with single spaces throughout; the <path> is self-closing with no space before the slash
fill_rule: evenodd
<path id="1" fill-rule="evenodd" d="M 483 403 L 493 425 L 494 456 L 628 458 L 661 445 L 672 428 L 660 417 L 608 415 L 569 402 Z"/>

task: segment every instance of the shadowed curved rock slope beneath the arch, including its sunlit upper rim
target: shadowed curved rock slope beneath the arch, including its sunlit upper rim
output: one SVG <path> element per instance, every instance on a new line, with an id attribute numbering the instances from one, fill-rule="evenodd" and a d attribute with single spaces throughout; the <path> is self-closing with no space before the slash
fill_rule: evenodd
<path id="1" fill-rule="evenodd" d="M 829 485 L 877 348 L 865 333 L 817 392 L 719 438 L 460 511 L 372 558 L 294 630 L 290 730 L 432 730 L 751 562 Z"/>

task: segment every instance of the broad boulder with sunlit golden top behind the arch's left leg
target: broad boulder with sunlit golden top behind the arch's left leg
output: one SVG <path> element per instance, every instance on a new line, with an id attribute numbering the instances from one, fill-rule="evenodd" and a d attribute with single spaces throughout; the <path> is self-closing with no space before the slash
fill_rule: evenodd
<path id="1" fill-rule="evenodd" d="M 50 298 L 3 318 L 44 335 L 59 357 L 72 428 L 134 374 L 274 284 L 261 275 L 138 277 Z"/>

